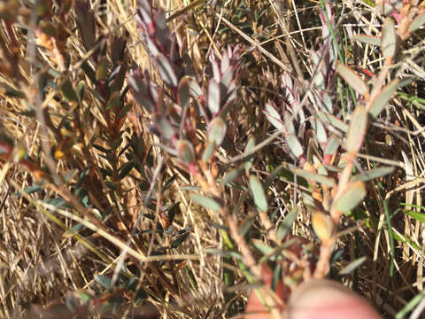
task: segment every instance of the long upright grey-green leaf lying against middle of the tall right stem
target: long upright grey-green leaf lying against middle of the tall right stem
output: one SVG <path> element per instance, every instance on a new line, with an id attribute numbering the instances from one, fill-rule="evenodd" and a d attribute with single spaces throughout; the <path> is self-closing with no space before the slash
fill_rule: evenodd
<path id="1" fill-rule="evenodd" d="M 367 111 L 363 105 L 358 105 L 352 113 L 352 120 L 347 133 L 347 151 L 359 152 L 367 130 Z"/>

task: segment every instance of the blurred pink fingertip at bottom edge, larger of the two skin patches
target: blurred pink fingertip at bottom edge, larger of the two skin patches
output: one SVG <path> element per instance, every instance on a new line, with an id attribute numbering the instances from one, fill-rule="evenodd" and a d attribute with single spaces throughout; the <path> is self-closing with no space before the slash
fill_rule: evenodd
<path id="1" fill-rule="evenodd" d="M 342 284 L 310 280 L 291 293 L 282 319 L 382 319 L 366 300 Z"/>

